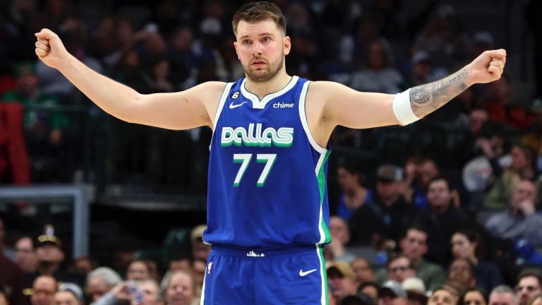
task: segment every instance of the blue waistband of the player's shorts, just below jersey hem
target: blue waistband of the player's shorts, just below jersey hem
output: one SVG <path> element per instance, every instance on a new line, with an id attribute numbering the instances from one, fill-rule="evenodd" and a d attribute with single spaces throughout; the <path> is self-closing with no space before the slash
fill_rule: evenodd
<path id="1" fill-rule="evenodd" d="M 215 253 L 220 253 L 228 256 L 235 257 L 253 257 L 253 258 L 266 258 L 266 257 L 277 257 L 277 256 L 289 256 L 292 254 L 299 253 L 309 253 L 316 250 L 317 245 L 289 245 L 282 246 L 277 248 L 249 248 L 249 247 L 238 247 L 230 246 L 224 244 L 213 244 L 211 246 L 211 251 Z M 320 245 L 318 245 L 321 247 Z"/>

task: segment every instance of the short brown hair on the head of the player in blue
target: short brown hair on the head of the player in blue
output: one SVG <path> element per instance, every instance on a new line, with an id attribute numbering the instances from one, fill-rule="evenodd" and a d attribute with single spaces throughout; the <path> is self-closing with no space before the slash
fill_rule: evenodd
<path id="1" fill-rule="evenodd" d="M 267 1 L 250 2 L 243 4 L 234 15 L 234 20 L 231 25 L 234 28 L 234 35 L 237 35 L 237 25 L 241 20 L 246 22 L 258 22 L 266 19 L 272 19 L 277 24 L 277 27 L 286 33 L 286 18 L 282 15 L 280 8 L 273 3 Z"/>

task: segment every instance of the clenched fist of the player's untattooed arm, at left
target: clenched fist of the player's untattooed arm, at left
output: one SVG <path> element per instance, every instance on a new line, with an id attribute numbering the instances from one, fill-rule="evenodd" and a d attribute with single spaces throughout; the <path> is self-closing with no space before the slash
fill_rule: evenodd
<path id="1" fill-rule="evenodd" d="M 35 33 L 36 36 L 36 55 L 52 68 L 59 68 L 61 60 L 66 59 L 68 51 L 62 44 L 59 36 L 52 30 L 42 29 Z"/>

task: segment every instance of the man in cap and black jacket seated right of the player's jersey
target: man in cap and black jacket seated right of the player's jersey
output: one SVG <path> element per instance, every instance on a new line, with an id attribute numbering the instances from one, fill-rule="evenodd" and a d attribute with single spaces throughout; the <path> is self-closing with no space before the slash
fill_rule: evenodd
<path id="1" fill-rule="evenodd" d="M 353 244 L 380 248 L 393 245 L 418 214 L 415 205 L 406 203 L 402 195 L 403 171 L 395 165 L 382 165 L 376 174 L 376 194 L 373 204 L 362 205 L 350 220 Z"/>

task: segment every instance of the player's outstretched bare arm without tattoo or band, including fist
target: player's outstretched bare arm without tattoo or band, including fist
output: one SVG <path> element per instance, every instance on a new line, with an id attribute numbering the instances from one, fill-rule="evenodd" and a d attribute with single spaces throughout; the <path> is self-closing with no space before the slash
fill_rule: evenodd
<path id="1" fill-rule="evenodd" d="M 96 73 L 69 54 L 51 30 L 36 34 L 36 55 L 105 112 L 131 123 L 169 129 L 211 126 L 224 83 L 208 82 L 174 93 L 142 95 L 126 85 Z"/>

